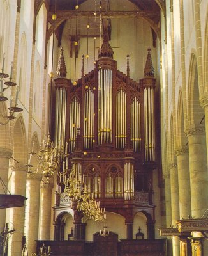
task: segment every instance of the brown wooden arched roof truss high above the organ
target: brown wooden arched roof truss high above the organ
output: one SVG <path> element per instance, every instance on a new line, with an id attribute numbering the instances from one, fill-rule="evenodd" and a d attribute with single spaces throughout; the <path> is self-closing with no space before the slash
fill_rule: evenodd
<path id="1" fill-rule="evenodd" d="M 87 0 L 36 0 L 36 8 L 38 4 L 45 2 L 47 4 L 48 21 L 52 23 L 52 13 L 56 12 L 56 35 L 59 36 L 61 40 L 62 31 L 66 21 L 75 18 L 76 10 L 75 6 L 81 6 Z M 140 17 L 147 21 L 149 26 L 152 28 L 152 33 L 158 36 L 160 39 L 160 13 L 165 11 L 165 1 L 164 0 L 126 0 L 126 2 L 132 3 L 135 8 L 134 10 L 126 10 L 125 6 L 119 6 L 119 10 L 111 10 L 110 5 L 113 0 L 95 0 L 97 8 L 102 5 L 102 19 L 110 20 L 113 18 L 122 17 Z M 124 3 L 124 2 L 123 2 Z M 94 4 L 87 5 L 87 10 L 80 8 L 77 12 L 80 19 L 87 19 L 87 17 L 93 17 L 94 15 Z M 104 22 L 105 23 L 105 22 Z M 52 35 L 52 28 L 48 29 L 47 40 Z M 109 35 L 110 36 L 110 35 Z M 154 35 L 153 35 L 154 36 Z"/>

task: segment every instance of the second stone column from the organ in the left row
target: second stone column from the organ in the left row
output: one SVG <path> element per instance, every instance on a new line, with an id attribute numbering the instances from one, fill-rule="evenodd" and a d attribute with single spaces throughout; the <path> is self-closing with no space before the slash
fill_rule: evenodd
<path id="1" fill-rule="evenodd" d="M 36 252 L 36 241 L 38 240 L 38 222 L 40 208 L 40 181 L 41 177 L 28 175 L 26 189 L 26 221 L 25 234 L 28 254 Z"/>

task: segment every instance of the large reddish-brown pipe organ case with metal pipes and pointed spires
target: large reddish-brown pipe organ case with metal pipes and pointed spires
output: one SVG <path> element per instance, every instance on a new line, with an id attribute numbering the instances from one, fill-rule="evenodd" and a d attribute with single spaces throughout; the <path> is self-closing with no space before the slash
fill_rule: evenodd
<path id="1" fill-rule="evenodd" d="M 74 86 L 66 79 L 61 48 L 54 79 L 54 141 L 68 141 L 75 173 L 85 175 L 87 188 L 96 198 L 131 200 L 135 172 L 155 161 L 156 79 L 150 49 L 139 83 L 129 76 L 129 56 L 125 75 L 117 70 L 113 54 L 104 38 L 94 70 L 85 75 L 82 57 L 82 77 Z"/>

